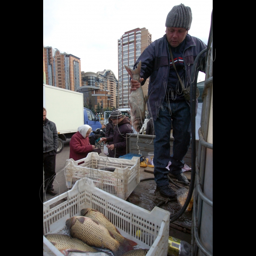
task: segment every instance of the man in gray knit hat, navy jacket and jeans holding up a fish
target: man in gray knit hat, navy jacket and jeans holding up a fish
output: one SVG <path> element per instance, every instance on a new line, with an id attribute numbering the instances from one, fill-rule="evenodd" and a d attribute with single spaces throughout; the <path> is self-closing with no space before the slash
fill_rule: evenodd
<path id="1" fill-rule="evenodd" d="M 204 53 L 196 63 L 194 80 L 190 76 L 196 56 L 207 48 L 203 41 L 188 34 L 191 22 L 190 7 L 184 4 L 174 6 L 166 18 L 166 34 L 151 43 L 133 66 L 135 69 L 141 61 L 139 81 L 130 79 L 132 91 L 139 88 L 139 82 L 143 85 L 150 76 L 147 104 L 148 109 L 151 109 L 155 130 L 154 176 L 159 191 L 170 198 L 177 195 L 169 185 L 168 172 L 177 180 L 189 183 L 182 168 L 191 140 L 190 101 L 184 98 L 180 79 L 187 88 L 191 81 L 196 84 L 199 71 L 205 73 Z M 174 137 L 172 155 L 171 127 Z M 170 171 L 166 169 L 169 161 L 172 162 Z"/>

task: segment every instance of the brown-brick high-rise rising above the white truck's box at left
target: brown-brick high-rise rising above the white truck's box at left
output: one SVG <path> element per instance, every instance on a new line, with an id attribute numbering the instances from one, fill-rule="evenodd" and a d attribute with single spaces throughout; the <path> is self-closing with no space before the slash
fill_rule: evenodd
<path id="1" fill-rule="evenodd" d="M 82 86 L 80 58 L 57 48 L 44 46 L 44 64 L 46 84 L 71 91 Z"/>

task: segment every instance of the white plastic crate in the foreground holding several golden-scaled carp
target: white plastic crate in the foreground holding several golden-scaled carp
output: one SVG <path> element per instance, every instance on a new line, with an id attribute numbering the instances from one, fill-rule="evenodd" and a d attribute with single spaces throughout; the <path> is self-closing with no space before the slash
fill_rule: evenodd
<path id="1" fill-rule="evenodd" d="M 61 199 L 63 203 L 51 208 Z M 68 192 L 44 203 L 43 235 L 52 233 L 69 234 L 65 225 L 68 218 L 79 216 L 83 208 L 102 212 L 121 235 L 136 242 L 137 249 L 149 249 L 147 256 L 166 256 L 168 251 L 170 212 L 154 207 L 150 212 L 126 202 L 94 186 L 88 178 L 82 178 Z M 137 232 L 140 230 L 140 232 Z M 43 236 L 44 256 L 63 256 Z"/>

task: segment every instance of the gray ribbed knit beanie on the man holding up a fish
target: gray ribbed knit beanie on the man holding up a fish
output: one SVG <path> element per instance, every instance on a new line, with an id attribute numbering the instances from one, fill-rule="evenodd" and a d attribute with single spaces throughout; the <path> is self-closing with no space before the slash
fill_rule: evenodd
<path id="1" fill-rule="evenodd" d="M 175 5 L 167 15 L 166 27 L 183 27 L 189 30 L 192 22 L 192 12 L 190 7 L 184 4 Z"/>

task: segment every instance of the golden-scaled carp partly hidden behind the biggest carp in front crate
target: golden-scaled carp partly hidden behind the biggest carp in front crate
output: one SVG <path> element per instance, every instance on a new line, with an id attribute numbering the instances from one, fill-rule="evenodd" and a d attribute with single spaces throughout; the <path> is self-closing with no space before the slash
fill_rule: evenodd
<path id="1" fill-rule="evenodd" d="M 133 242 L 132 240 L 123 237 L 120 234 L 120 232 L 116 229 L 116 227 L 109 221 L 109 219 L 100 211 L 91 208 L 85 208 L 81 210 L 81 215 L 98 221 L 102 226 L 108 229 L 113 234 L 114 238 L 121 244 L 126 244 L 130 246 L 137 245 L 136 242 Z"/>

